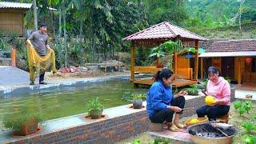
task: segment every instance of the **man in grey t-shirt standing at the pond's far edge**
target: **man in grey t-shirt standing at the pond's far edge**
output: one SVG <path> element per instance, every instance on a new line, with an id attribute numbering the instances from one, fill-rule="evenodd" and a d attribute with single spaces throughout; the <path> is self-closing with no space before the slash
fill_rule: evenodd
<path id="1" fill-rule="evenodd" d="M 46 24 L 40 25 L 40 30 L 35 31 L 30 35 L 30 42 L 34 46 L 34 49 L 40 56 L 46 56 L 46 49 L 50 50 L 50 46 L 47 44 L 47 27 Z M 43 71 L 39 76 L 39 84 L 46 85 L 44 82 L 45 71 Z M 30 82 L 30 85 L 34 85 L 34 82 Z"/>

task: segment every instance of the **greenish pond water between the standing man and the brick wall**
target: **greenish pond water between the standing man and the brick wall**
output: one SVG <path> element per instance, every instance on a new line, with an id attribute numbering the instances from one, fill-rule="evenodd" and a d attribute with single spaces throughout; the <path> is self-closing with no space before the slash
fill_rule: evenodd
<path id="1" fill-rule="evenodd" d="M 148 88 L 134 88 L 127 79 L 107 80 L 86 86 L 70 86 L 36 93 L 0 95 L 0 122 L 5 114 L 28 110 L 40 113 L 44 120 L 85 113 L 86 103 L 98 97 L 104 109 L 131 102 L 123 100 L 124 94 L 146 94 Z"/>

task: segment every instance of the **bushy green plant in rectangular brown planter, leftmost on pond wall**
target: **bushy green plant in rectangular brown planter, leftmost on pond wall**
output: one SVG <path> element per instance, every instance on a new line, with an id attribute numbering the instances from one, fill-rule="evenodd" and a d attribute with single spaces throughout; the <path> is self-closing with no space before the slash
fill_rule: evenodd
<path id="1" fill-rule="evenodd" d="M 42 116 L 38 113 L 10 113 L 3 118 L 3 126 L 13 130 L 14 135 L 34 134 L 38 131 L 38 122 L 42 122 Z"/>

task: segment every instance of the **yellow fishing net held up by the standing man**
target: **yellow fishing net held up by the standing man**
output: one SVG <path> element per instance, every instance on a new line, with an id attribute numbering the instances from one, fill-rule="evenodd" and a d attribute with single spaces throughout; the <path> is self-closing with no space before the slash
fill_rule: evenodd
<path id="1" fill-rule="evenodd" d="M 27 46 L 27 58 L 30 68 L 30 81 L 34 82 L 35 77 L 48 70 L 51 66 L 51 70 L 55 73 L 57 72 L 55 67 L 55 54 L 54 50 L 47 50 L 46 56 L 39 56 L 39 54 L 34 50 L 34 46 L 31 44 L 30 40 L 26 41 Z"/>

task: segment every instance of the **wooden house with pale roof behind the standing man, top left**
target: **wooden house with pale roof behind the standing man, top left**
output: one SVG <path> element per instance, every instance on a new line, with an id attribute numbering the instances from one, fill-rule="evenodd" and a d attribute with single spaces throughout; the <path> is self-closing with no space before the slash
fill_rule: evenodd
<path id="1" fill-rule="evenodd" d="M 23 18 L 32 3 L 0 2 L 0 31 L 14 32 L 23 36 Z"/>

